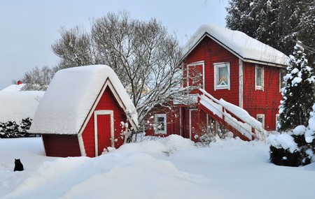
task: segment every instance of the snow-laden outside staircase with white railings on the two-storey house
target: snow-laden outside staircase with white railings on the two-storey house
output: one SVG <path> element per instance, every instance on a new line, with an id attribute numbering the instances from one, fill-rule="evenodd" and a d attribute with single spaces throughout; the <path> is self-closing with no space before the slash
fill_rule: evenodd
<path id="1" fill-rule="evenodd" d="M 251 117 L 246 110 L 223 99 L 218 100 L 204 89 L 200 89 L 198 110 L 206 112 L 207 115 L 218 121 L 241 140 L 265 140 L 267 138 L 267 131 L 262 128 L 260 121 Z"/>

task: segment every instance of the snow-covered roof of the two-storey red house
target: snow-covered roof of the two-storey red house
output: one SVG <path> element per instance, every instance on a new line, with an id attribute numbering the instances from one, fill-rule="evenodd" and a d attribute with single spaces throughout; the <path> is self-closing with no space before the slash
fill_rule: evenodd
<path id="1" fill-rule="evenodd" d="M 205 37 L 215 40 L 243 61 L 274 66 L 287 66 L 288 56 L 279 50 L 261 43 L 241 31 L 232 31 L 216 25 L 204 24 L 183 47 L 185 58 Z"/>

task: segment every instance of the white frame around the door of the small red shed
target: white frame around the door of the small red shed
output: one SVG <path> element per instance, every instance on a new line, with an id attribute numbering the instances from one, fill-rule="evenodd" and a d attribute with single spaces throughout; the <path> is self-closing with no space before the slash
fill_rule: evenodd
<path id="1" fill-rule="evenodd" d="M 113 110 L 95 110 L 94 111 L 94 141 L 95 141 L 95 156 L 99 156 L 99 145 L 97 141 L 97 115 L 111 116 L 111 147 L 115 147 Z"/>

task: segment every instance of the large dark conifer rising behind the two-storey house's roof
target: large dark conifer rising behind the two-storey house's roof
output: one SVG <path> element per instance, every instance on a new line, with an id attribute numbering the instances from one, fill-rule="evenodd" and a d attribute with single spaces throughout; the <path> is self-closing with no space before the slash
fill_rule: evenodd
<path id="1" fill-rule="evenodd" d="M 242 31 L 284 54 L 301 40 L 315 68 L 315 0 L 230 0 L 227 27 Z M 307 48 L 306 48 L 307 47 Z"/>

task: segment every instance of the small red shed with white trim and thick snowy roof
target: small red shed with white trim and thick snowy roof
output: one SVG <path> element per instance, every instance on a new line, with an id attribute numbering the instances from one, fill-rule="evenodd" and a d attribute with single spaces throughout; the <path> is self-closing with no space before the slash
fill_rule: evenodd
<path id="1" fill-rule="evenodd" d="M 55 74 L 29 132 L 42 135 L 47 156 L 94 157 L 120 147 L 126 128 L 137 131 L 137 125 L 137 111 L 116 73 L 104 65 L 80 66 Z"/>

